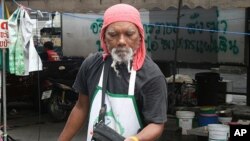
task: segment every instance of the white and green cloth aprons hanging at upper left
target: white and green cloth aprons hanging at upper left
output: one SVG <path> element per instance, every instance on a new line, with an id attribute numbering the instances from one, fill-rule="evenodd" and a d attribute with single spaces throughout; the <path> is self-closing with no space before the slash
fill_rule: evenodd
<path id="1" fill-rule="evenodd" d="M 15 75 L 29 75 L 42 70 L 42 61 L 35 49 L 31 22 L 28 12 L 18 8 L 9 18 L 9 69 Z"/>

